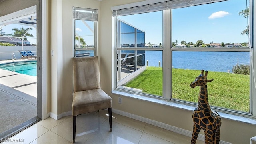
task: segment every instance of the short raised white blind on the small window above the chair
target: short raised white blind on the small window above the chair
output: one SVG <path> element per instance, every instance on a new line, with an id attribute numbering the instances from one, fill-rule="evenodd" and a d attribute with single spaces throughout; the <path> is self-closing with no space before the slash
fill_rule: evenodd
<path id="1" fill-rule="evenodd" d="M 77 20 L 98 21 L 98 10 L 73 7 L 73 18 Z"/>

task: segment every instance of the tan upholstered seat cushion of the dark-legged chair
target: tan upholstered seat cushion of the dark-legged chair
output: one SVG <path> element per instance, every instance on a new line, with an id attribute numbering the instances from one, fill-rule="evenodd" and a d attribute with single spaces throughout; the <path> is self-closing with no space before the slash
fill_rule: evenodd
<path id="1" fill-rule="evenodd" d="M 112 98 L 102 89 L 77 91 L 73 95 L 72 114 L 77 116 L 112 107 Z"/>

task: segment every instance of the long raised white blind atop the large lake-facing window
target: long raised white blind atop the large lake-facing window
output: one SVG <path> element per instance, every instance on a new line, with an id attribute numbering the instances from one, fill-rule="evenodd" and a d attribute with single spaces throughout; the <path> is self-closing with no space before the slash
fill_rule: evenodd
<path id="1" fill-rule="evenodd" d="M 169 0 L 165 2 L 158 2 L 154 4 L 146 4 L 131 8 L 124 8 L 120 10 L 113 10 L 112 16 L 125 16 L 130 14 L 140 14 L 145 12 L 155 12 L 160 10 L 168 10 L 175 8 L 184 8 L 188 6 L 196 6 L 200 4 L 208 4 L 213 2 L 220 2 L 226 0 Z"/>

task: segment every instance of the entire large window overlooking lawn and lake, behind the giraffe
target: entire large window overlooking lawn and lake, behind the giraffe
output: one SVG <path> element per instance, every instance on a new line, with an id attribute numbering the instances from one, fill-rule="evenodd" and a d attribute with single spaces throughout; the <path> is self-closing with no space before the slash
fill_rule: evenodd
<path id="1" fill-rule="evenodd" d="M 208 79 L 214 79 L 208 83 L 212 107 L 254 116 L 252 66 L 256 60 L 248 36 L 252 20 L 249 3 L 218 1 L 195 0 L 188 4 L 174 0 L 114 8 L 115 90 L 196 105 L 199 89 L 189 85 L 204 69 Z M 138 59 L 144 65 L 138 66 Z M 126 61 L 137 65 L 126 65 Z"/>

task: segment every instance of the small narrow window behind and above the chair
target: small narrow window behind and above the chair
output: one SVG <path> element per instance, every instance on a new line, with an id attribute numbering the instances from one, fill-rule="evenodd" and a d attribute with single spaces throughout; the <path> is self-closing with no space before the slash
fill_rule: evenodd
<path id="1" fill-rule="evenodd" d="M 75 56 L 94 56 L 98 10 L 73 7 Z"/>

